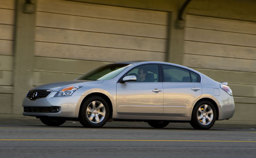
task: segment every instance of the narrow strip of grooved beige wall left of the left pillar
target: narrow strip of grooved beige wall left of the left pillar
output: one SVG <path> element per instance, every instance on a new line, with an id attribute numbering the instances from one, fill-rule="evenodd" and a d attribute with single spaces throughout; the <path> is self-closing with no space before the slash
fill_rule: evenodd
<path id="1" fill-rule="evenodd" d="M 0 113 L 12 113 L 15 1 L 0 0 Z"/>

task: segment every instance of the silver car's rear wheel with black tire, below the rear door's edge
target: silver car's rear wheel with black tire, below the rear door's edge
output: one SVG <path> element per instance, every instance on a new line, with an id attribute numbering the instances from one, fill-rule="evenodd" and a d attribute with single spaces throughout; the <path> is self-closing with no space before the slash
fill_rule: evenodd
<path id="1" fill-rule="evenodd" d="M 200 101 L 193 108 L 190 124 L 195 129 L 210 129 L 216 116 L 216 109 L 211 102 Z"/>

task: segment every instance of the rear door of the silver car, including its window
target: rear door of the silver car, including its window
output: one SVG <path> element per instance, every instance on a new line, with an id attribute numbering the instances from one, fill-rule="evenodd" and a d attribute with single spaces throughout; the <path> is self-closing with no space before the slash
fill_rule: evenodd
<path id="1" fill-rule="evenodd" d="M 162 65 L 163 115 L 190 116 L 194 101 L 201 96 L 200 75 L 190 70 Z"/>

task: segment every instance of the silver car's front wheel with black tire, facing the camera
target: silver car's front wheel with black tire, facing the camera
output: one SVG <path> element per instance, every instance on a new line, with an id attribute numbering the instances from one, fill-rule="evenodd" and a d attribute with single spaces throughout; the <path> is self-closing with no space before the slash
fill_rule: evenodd
<path id="1" fill-rule="evenodd" d="M 99 96 L 90 97 L 81 106 L 79 122 L 83 126 L 97 128 L 102 127 L 107 122 L 109 107 L 103 98 Z"/>

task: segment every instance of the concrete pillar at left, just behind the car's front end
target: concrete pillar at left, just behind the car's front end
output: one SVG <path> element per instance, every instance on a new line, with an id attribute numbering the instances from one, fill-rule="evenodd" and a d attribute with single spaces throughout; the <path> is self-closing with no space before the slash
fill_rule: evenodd
<path id="1" fill-rule="evenodd" d="M 27 3 L 26 2 L 31 2 Z M 22 114 L 22 100 L 33 82 L 36 0 L 16 1 L 12 113 Z"/>

